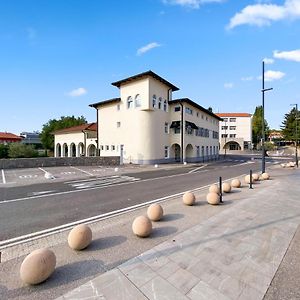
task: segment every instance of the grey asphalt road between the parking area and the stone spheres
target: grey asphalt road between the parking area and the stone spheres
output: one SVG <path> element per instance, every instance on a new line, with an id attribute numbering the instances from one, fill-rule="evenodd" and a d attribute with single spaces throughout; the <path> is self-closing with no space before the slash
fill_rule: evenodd
<path id="1" fill-rule="evenodd" d="M 243 159 L 243 158 L 241 158 Z M 93 217 L 257 171 L 259 161 L 90 177 L 0 188 L 0 241 Z"/>

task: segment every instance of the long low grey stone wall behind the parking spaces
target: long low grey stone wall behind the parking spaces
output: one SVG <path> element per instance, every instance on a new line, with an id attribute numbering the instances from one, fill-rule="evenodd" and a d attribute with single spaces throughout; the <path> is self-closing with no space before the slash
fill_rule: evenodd
<path id="1" fill-rule="evenodd" d="M 39 157 L 0 159 L 0 169 L 58 166 L 118 166 L 119 156 L 110 157 Z"/>

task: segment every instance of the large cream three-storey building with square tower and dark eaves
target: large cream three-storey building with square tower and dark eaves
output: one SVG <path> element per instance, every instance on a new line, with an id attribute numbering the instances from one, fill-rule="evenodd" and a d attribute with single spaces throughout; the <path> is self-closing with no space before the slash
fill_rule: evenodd
<path id="1" fill-rule="evenodd" d="M 97 110 L 100 156 L 121 163 L 194 162 L 218 157 L 217 115 L 152 71 L 112 83 L 120 97 L 91 104 Z"/>

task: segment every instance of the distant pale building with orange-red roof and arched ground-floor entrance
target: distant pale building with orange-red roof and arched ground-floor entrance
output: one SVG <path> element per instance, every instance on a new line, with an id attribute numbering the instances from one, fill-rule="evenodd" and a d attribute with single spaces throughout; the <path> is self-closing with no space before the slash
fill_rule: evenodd
<path id="1" fill-rule="evenodd" d="M 217 113 L 220 122 L 220 149 L 252 149 L 252 115 L 248 113 Z"/>

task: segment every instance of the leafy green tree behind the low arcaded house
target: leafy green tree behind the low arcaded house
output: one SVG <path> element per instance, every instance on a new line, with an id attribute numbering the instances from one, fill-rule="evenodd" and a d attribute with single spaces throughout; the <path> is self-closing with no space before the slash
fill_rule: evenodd
<path id="1" fill-rule="evenodd" d="M 60 117 L 59 120 L 50 119 L 46 124 L 43 125 L 42 132 L 40 134 L 41 142 L 44 148 L 47 150 L 54 150 L 54 136 L 53 132 L 59 129 L 64 129 L 72 126 L 86 124 L 85 117 Z"/>

